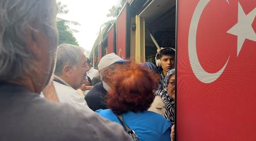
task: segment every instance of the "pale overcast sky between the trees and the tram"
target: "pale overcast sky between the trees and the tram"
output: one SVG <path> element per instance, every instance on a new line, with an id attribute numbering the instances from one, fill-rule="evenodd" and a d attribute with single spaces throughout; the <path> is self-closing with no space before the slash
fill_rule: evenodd
<path id="1" fill-rule="evenodd" d="M 108 21 L 109 9 L 117 5 L 119 0 L 57 0 L 67 5 L 68 14 L 58 15 L 63 19 L 77 21 L 80 26 L 71 26 L 78 30 L 74 33 L 80 46 L 90 51 L 99 33 L 100 26 Z"/>

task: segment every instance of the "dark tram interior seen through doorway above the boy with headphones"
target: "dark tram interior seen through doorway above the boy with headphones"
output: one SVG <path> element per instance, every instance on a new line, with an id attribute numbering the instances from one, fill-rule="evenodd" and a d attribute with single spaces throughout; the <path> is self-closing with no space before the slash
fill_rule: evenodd
<path id="1" fill-rule="evenodd" d="M 145 19 L 145 61 L 155 62 L 157 48 L 150 33 L 160 47 L 175 48 L 176 1 L 153 1 L 141 16 Z"/>

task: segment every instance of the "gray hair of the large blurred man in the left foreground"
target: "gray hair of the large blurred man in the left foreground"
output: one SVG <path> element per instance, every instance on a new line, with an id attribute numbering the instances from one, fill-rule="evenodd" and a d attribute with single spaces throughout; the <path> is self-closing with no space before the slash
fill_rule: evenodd
<path id="1" fill-rule="evenodd" d="M 53 0 L 0 1 L 0 81 L 21 79 L 28 70 L 35 69 L 26 34 L 42 28 L 49 38 L 57 41 L 56 14 Z"/>

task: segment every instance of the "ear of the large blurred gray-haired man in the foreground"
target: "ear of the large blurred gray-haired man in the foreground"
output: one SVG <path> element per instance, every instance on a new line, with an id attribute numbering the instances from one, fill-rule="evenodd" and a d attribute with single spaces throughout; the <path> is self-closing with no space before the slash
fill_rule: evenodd
<path id="1" fill-rule="evenodd" d="M 26 32 L 26 45 L 28 50 L 34 55 L 34 59 L 41 59 L 40 45 L 38 45 L 39 32 L 28 30 Z"/>

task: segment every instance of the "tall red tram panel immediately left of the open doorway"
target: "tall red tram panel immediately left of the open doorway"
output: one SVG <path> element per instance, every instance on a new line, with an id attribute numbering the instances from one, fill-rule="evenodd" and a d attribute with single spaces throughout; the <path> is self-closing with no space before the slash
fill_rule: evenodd
<path id="1" fill-rule="evenodd" d="M 117 34 L 116 34 L 116 54 L 125 59 L 125 45 L 126 45 L 126 7 L 123 9 L 117 18 Z"/>

